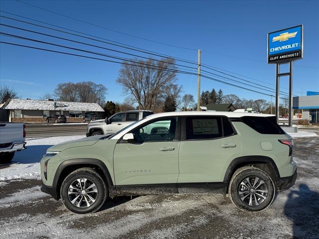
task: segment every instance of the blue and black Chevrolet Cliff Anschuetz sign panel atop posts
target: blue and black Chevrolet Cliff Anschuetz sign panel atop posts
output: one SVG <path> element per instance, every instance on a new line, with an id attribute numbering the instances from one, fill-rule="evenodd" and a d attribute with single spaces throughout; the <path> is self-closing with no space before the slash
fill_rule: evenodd
<path id="1" fill-rule="evenodd" d="M 303 25 L 268 33 L 268 63 L 303 58 Z"/>

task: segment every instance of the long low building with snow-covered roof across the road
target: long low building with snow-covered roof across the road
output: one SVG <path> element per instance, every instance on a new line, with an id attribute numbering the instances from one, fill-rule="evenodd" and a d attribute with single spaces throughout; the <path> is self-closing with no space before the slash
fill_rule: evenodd
<path id="1" fill-rule="evenodd" d="M 67 122 L 82 122 L 84 117 L 98 117 L 104 113 L 103 108 L 96 103 L 53 100 L 10 99 L 1 109 L 1 115 L 4 114 L 3 110 L 6 111 L 9 122 L 44 122 L 51 115 L 64 115 Z"/>

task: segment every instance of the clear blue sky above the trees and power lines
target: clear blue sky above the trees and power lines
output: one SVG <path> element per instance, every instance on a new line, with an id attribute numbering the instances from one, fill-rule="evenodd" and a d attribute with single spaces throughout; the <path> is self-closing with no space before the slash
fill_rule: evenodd
<path id="1" fill-rule="evenodd" d="M 245 79 L 270 88 L 275 88 L 275 65 L 266 63 L 267 32 L 304 24 L 304 59 L 294 62 L 294 94 L 305 95 L 306 91 L 319 91 L 319 1 L 31 0 L 28 2 L 61 14 L 150 40 L 185 48 L 201 49 L 202 64 L 250 77 Z M 195 50 L 171 47 L 105 30 L 18 1 L 1 0 L 0 8 L 3 11 L 162 54 L 191 61 L 197 60 Z M 9 16 L 9 14 L 3 12 L 1 12 L 1 15 Z M 1 18 L 1 23 L 40 30 L 37 27 L 3 18 Z M 16 31 L 3 26 L 0 29 L 3 32 L 33 37 L 56 44 L 63 43 L 82 49 L 124 56 L 102 49 Z M 41 29 L 40 31 L 76 39 L 49 30 Z M 39 43 L 34 44 L 4 36 L 0 36 L 0 38 L 3 41 L 40 46 Z M 89 42 L 80 38 L 77 38 L 77 40 Z M 97 42 L 90 43 L 99 44 Z M 104 46 L 108 47 L 107 45 Z M 57 49 L 46 45 L 41 45 L 41 47 Z M 117 47 L 113 48 L 124 50 Z M 70 52 L 65 49 L 62 49 L 62 51 Z M 142 53 L 138 54 L 149 56 Z M 45 93 L 52 93 L 59 83 L 93 81 L 108 88 L 106 100 L 122 102 L 126 96 L 123 94 L 122 87 L 116 83 L 120 67 L 119 64 L 109 62 L 0 45 L 0 83 L 1 85 L 11 86 L 22 98 L 38 99 Z M 190 93 L 196 96 L 196 76 L 179 74 L 177 78 L 177 83 L 183 86 L 183 94 Z M 283 78 L 281 87 L 282 91 L 288 92 L 287 78 Z M 246 99 L 271 100 L 269 96 L 202 79 L 201 90 L 211 90 L 212 88 L 221 88 L 225 95 L 236 94 Z M 267 91 L 263 92 L 269 93 Z"/>

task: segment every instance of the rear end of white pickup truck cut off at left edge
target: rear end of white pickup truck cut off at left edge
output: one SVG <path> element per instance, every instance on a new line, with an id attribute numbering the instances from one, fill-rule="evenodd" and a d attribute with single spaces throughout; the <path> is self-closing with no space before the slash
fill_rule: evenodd
<path id="1" fill-rule="evenodd" d="M 24 123 L 0 122 L 0 163 L 9 163 L 25 144 Z"/>

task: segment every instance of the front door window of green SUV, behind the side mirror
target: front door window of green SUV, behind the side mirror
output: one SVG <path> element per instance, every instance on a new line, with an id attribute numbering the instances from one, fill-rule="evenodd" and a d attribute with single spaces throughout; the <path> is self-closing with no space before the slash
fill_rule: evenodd
<path id="1" fill-rule="evenodd" d="M 132 133 L 137 142 L 172 141 L 175 139 L 176 118 L 153 121 L 135 128 Z"/>

